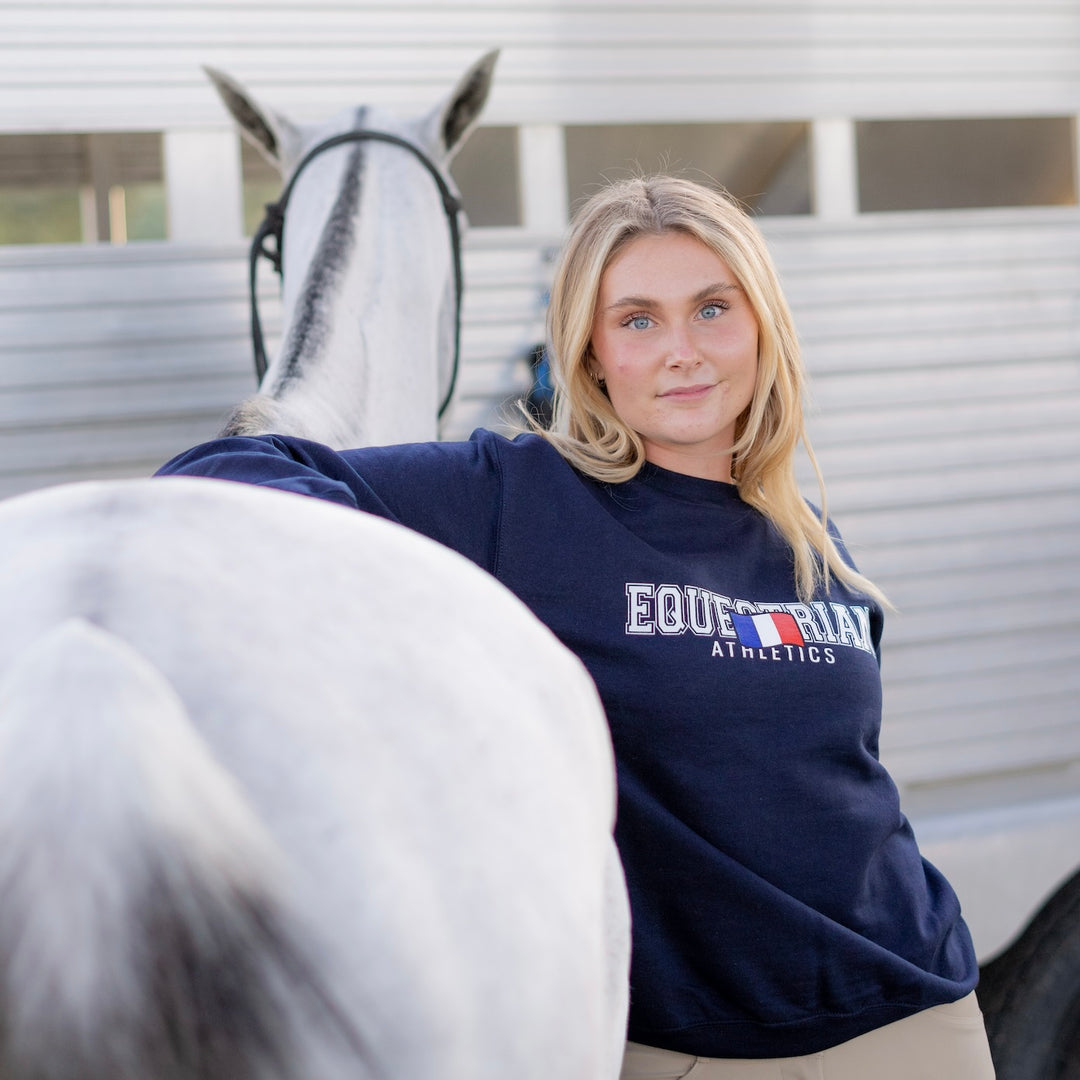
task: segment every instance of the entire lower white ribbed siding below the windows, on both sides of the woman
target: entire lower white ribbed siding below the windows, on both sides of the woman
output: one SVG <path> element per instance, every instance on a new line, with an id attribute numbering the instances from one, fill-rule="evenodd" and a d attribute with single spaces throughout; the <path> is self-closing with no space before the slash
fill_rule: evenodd
<path id="1" fill-rule="evenodd" d="M 1080 762 L 1080 214 L 764 228 L 831 513 L 900 609 L 890 768 L 919 788 Z M 447 437 L 498 426 L 527 384 L 551 243 L 469 235 Z M 212 436 L 253 389 L 245 281 L 240 247 L 0 249 L 0 495 L 144 474 Z M 271 337 L 275 294 L 268 273 Z"/>

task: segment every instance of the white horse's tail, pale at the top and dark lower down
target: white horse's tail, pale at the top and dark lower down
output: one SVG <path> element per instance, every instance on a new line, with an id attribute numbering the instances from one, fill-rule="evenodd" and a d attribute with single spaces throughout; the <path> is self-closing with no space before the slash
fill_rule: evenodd
<path id="1" fill-rule="evenodd" d="M 298 1080 L 327 999 L 281 866 L 162 675 L 53 631 L 0 684 L 0 1077 Z"/>

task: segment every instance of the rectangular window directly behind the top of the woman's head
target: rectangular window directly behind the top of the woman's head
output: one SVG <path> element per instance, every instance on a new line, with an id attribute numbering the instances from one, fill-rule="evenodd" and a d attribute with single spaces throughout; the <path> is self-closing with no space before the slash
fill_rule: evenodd
<path id="1" fill-rule="evenodd" d="M 805 123 L 603 124 L 566 129 L 576 207 L 605 180 L 671 172 L 713 178 L 759 214 L 809 214 Z"/>

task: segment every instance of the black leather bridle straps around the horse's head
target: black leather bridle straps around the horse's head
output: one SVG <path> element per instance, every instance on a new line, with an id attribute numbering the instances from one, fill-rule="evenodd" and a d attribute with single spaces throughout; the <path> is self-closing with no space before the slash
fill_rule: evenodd
<path id="1" fill-rule="evenodd" d="M 440 172 L 438 166 L 431 160 L 431 158 L 429 158 L 418 146 L 410 143 L 408 139 L 401 138 L 397 135 L 391 135 L 389 132 L 356 127 L 353 131 L 342 132 L 339 135 L 332 135 L 329 138 L 323 139 L 322 143 L 313 146 L 300 160 L 300 163 L 293 171 L 293 175 L 289 177 L 288 184 L 285 185 L 285 189 L 282 191 L 281 198 L 279 198 L 276 202 L 267 203 L 266 216 L 262 218 L 261 225 L 259 225 L 258 229 L 256 229 L 255 235 L 252 239 L 251 256 L 248 259 L 248 291 L 252 307 L 252 346 L 255 350 L 255 374 L 258 381 L 261 382 L 262 376 L 266 375 L 267 372 L 267 354 L 262 340 L 262 324 L 259 321 L 259 306 L 258 299 L 256 298 L 256 278 L 258 274 L 259 258 L 269 259 L 273 265 L 274 270 L 278 271 L 278 275 L 283 276 L 282 254 L 285 242 L 285 210 L 288 206 L 288 200 L 293 194 L 293 188 L 296 187 L 296 181 L 300 173 L 302 173 L 308 164 L 314 158 L 318 158 L 324 150 L 341 146 L 343 143 L 361 143 L 365 139 L 372 139 L 377 143 L 391 143 L 394 146 L 400 146 L 408 150 L 409 153 L 411 153 L 431 174 L 432 179 L 435 181 L 435 186 L 438 188 L 438 193 L 443 199 L 443 212 L 446 214 L 446 220 L 449 222 L 450 249 L 454 255 L 455 310 L 454 366 L 450 368 L 450 382 L 447 387 L 446 394 L 438 406 L 438 416 L 442 418 L 443 414 L 450 404 L 450 399 L 454 396 L 454 387 L 458 381 L 458 368 L 461 364 L 461 294 L 463 288 L 463 276 L 461 273 L 461 227 L 458 221 L 458 215 L 461 212 L 461 202 L 450 190 L 450 186 L 446 183 L 446 179 Z M 267 242 L 271 239 L 274 242 L 273 247 L 268 247 Z"/>

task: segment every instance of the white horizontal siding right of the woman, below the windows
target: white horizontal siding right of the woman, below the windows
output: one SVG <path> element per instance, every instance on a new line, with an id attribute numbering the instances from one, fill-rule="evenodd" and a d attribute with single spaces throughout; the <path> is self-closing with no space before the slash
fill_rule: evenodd
<path id="1" fill-rule="evenodd" d="M 909 786 L 1080 760 L 1080 217 L 767 222 Z M 809 470 L 804 470 L 809 484 Z"/>

